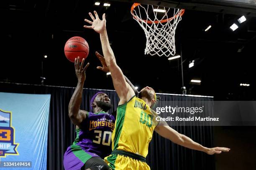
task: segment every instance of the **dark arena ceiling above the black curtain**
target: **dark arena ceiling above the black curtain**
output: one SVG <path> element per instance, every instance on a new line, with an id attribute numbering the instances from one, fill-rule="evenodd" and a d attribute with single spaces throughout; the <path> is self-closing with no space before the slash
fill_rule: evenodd
<path id="1" fill-rule="evenodd" d="M 132 19 L 132 3 L 110 1 L 95 6 L 92 0 L 9 0 L 1 2 L 0 81 L 76 86 L 72 62 L 64 55 L 64 44 L 73 36 L 84 37 L 90 46 L 90 62 L 84 87 L 113 89 L 110 77 L 96 69 L 101 52 L 99 35 L 83 28 L 88 12 L 106 13 L 107 30 L 118 65 L 139 88 L 181 94 L 181 60 L 144 55 L 146 38 Z M 103 2 L 103 1 L 102 1 Z M 188 94 L 213 95 L 216 100 L 254 100 L 256 18 L 247 17 L 232 32 L 229 27 L 240 15 L 186 10 L 176 30 L 177 54 L 183 57 L 184 85 Z M 204 30 L 212 25 L 209 31 Z M 239 50 L 240 49 L 240 50 Z M 239 52 L 238 52 L 239 51 Z M 47 55 L 47 58 L 44 58 Z M 195 60 L 195 66 L 188 68 Z M 43 72 L 42 72 L 43 63 Z M 202 80 L 192 85 L 190 80 Z M 249 83 L 249 87 L 240 87 Z"/>

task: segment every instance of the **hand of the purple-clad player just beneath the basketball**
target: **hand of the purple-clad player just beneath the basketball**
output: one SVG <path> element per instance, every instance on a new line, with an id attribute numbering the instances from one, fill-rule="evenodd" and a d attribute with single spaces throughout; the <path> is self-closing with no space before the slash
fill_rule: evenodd
<path id="1" fill-rule="evenodd" d="M 75 58 L 74 65 L 75 65 L 76 75 L 79 82 L 84 82 L 86 78 L 85 70 L 87 69 L 90 63 L 88 62 L 87 65 L 83 67 L 84 58 L 81 62 L 81 65 L 79 65 L 79 62 L 80 62 L 80 57 Z"/>

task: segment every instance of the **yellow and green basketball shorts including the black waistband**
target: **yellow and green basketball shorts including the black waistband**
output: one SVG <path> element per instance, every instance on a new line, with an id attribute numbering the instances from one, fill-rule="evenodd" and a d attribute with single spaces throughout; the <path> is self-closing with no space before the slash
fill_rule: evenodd
<path id="1" fill-rule="evenodd" d="M 124 150 L 113 150 L 105 162 L 112 170 L 150 170 L 146 158 Z"/>

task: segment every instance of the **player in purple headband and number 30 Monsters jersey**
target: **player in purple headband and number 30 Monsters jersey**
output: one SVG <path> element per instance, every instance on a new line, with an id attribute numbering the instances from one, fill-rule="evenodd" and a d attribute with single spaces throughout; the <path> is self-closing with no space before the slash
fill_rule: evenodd
<path id="1" fill-rule="evenodd" d="M 96 52 L 96 56 L 100 59 L 101 55 Z M 109 170 L 108 165 L 102 159 L 110 155 L 112 151 L 111 135 L 115 126 L 115 117 L 108 114 L 112 105 L 108 95 L 97 92 L 90 101 L 93 112 L 79 110 L 86 78 L 85 70 L 89 63 L 83 68 L 83 59 L 79 66 L 78 57 L 74 64 L 78 83 L 69 102 L 69 117 L 76 125 L 77 138 L 64 154 L 64 168 L 65 170 Z M 106 71 L 105 67 L 106 65 L 102 63 L 102 67 L 97 68 Z M 127 78 L 126 80 L 131 84 Z M 133 85 L 131 86 L 135 89 Z"/>

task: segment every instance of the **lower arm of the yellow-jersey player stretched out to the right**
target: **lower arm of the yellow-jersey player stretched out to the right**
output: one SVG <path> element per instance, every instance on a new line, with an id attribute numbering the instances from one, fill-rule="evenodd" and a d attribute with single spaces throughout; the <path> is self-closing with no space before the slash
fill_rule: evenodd
<path id="1" fill-rule="evenodd" d="M 206 148 L 199 143 L 194 142 L 189 137 L 178 133 L 176 130 L 169 127 L 169 125 L 165 121 L 159 122 L 159 125 L 156 126 L 155 131 L 162 137 L 171 140 L 173 143 L 182 145 L 189 149 L 200 150 L 209 155 L 213 155 L 215 153 L 220 154 L 222 152 L 228 152 L 230 150 L 229 148 L 223 147 Z"/>

